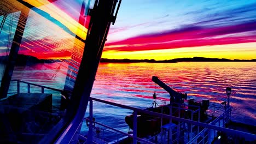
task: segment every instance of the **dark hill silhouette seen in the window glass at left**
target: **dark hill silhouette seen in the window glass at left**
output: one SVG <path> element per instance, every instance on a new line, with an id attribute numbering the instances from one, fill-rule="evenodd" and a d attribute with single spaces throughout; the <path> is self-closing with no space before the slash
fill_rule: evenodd
<path id="1" fill-rule="evenodd" d="M 0 63 L 6 64 L 9 56 L 0 56 Z M 33 56 L 18 55 L 15 65 L 33 65 L 37 63 L 54 63 L 61 62 L 58 59 L 38 59 Z"/>

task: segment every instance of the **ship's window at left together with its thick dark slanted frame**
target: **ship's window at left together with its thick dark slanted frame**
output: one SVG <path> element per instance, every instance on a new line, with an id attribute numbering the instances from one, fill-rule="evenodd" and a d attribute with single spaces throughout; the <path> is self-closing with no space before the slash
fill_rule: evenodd
<path id="1" fill-rule="evenodd" d="M 72 141 L 117 4 L 0 2 L 0 143 Z"/>

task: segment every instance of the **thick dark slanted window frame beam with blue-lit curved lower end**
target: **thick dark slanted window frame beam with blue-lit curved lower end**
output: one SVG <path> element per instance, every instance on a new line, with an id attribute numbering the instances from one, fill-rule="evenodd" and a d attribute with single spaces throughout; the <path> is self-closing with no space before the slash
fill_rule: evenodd
<path id="1" fill-rule="evenodd" d="M 117 0 L 102 0 L 95 3 L 97 5 L 91 16 L 84 55 L 66 112 L 67 119 L 73 119 L 56 143 L 69 143 L 83 121 Z"/>

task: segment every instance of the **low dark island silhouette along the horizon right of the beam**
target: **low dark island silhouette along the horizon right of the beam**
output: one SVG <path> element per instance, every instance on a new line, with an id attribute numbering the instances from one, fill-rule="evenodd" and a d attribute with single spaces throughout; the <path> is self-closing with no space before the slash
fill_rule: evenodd
<path id="1" fill-rule="evenodd" d="M 169 60 L 156 61 L 155 59 L 108 59 L 101 58 L 101 63 L 176 63 L 176 62 L 256 62 L 256 59 L 226 59 L 226 58 L 174 58 Z"/>

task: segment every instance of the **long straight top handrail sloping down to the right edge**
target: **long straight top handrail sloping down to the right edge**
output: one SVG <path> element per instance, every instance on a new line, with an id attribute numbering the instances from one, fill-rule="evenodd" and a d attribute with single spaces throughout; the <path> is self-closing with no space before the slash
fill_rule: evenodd
<path id="1" fill-rule="evenodd" d="M 164 118 L 171 118 L 174 121 L 190 123 L 190 124 L 194 124 L 194 125 L 197 125 L 197 126 L 200 126 L 200 127 L 205 127 L 205 128 L 208 128 L 208 129 L 214 129 L 214 130 L 218 130 L 218 131 L 223 131 L 224 133 L 229 133 L 231 135 L 242 136 L 242 137 L 246 137 L 248 139 L 256 140 L 256 135 L 250 134 L 250 133 L 246 133 L 246 132 L 243 132 L 243 131 L 238 131 L 238 130 L 234 130 L 234 129 L 218 127 L 218 126 L 212 125 L 212 124 L 191 121 L 189 119 L 174 117 L 174 116 L 165 115 L 165 114 L 162 114 L 162 113 L 152 112 L 152 111 L 148 111 L 148 110 L 142 110 L 142 109 L 138 109 L 136 107 L 131 107 L 131 106 L 121 105 L 121 104 L 117 104 L 117 103 L 112 103 L 110 101 L 101 100 L 101 99 L 97 99 L 97 98 L 90 97 L 90 99 L 98 101 L 98 102 L 101 102 L 101 103 L 104 103 L 104 104 L 109 104 L 109 105 L 114 105 L 114 106 L 118 106 L 118 107 L 123 107 L 125 109 L 129 109 L 129 110 L 133 110 L 133 111 L 137 111 L 137 112 L 142 112 L 142 113 L 147 113 L 147 114 L 153 115 L 153 116 L 164 117 Z"/>

